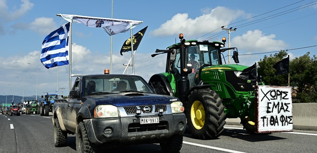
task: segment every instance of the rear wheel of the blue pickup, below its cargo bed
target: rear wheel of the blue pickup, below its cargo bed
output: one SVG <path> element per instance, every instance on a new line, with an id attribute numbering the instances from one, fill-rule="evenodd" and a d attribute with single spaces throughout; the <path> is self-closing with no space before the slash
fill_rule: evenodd
<path id="1" fill-rule="evenodd" d="M 54 145 L 55 147 L 65 146 L 67 142 L 67 132 L 61 131 L 58 119 L 54 119 Z"/>

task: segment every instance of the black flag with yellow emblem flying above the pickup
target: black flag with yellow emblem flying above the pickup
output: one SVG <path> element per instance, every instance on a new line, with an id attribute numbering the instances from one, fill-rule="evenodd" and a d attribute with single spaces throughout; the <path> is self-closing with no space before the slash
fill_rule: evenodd
<path id="1" fill-rule="evenodd" d="M 138 48 L 138 46 L 143 38 L 143 35 L 145 34 L 146 29 L 147 29 L 147 26 L 132 36 L 132 38 L 133 38 L 133 50 L 135 50 L 135 51 L 137 50 L 137 48 Z M 129 51 L 131 51 L 131 38 L 127 39 L 123 43 L 121 50 L 120 50 L 120 54 L 122 55 L 122 52 L 129 52 Z"/>

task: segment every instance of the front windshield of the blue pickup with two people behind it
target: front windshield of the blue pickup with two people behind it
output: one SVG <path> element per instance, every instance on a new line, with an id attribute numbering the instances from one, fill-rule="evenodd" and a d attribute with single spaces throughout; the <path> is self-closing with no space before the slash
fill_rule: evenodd
<path id="1" fill-rule="evenodd" d="M 87 76 L 85 95 L 113 94 L 122 92 L 151 93 L 154 91 L 140 76 Z"/>

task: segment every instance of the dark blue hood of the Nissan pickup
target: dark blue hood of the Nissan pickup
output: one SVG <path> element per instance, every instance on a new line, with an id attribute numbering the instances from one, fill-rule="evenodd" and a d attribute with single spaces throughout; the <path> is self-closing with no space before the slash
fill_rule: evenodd
<path id="1" fill-rule="evenodd" d="M 133 92 L 108 95 L 91 95 L 86 96 L 86 98 L 96 101 L 97 105 L 109 104 L 117 107 L 171 104 L 173 101 L 179 101 L 177 98 L 167 95 L 144 94 Z"/>

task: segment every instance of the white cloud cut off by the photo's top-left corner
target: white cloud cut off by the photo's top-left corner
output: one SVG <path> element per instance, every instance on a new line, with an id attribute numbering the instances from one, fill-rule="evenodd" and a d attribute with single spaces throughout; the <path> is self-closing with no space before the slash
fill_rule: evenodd
<path id="1" fill-rule="evenodd" d="M 0 18 L 6 21 L 14 21 L 23 16 L 27 11 L 33 8 L 33 3 L 29 0 L 21 0 L 20 8 L 16 10 L 9 10 L 6 0 L 0 0 Z"/>

